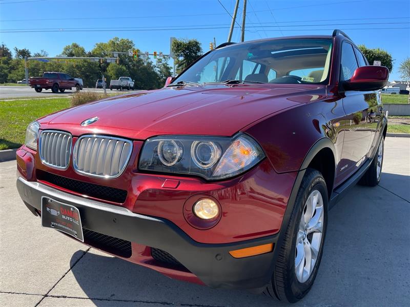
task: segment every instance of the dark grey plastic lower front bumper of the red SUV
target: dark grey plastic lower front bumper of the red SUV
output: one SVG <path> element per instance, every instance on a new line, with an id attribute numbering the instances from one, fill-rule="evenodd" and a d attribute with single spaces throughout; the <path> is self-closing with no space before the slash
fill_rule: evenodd
<path id="1" fill-rule="evenodd" d="M 41 209 L 42 196 L 47 196 L 77 207 L 83 228 L 168 252 L 209 287 L 261 289 L 271 281 L 279 233 L 229 244 L 203 244 L 164 218 L 81 198 L 22 177 L 17 179 L 17 190 L 26 205 L 37 210 Z M 274 244 L 270 253 L 239 259 L 229 254 L 232 250 L 269 243 Z"/>

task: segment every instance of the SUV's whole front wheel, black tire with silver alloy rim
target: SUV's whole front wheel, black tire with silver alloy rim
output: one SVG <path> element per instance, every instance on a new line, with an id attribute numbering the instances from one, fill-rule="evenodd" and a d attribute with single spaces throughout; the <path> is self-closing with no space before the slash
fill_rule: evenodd
<path id="1" fill-rule="evenodd" d="M 307 209 L 308 204 L 311 204 L 308 201 L 311 199 L 317 200 L 314 211 Z M 263 292 L 265 295 L 293 303 L 308 294 L 315 281 L 323 254 L 328 203 L 326 183 L 322 174 L 312 168 L 306 169 L 288 227 L 282 230 L 285 231 L 283 242 L 281 246 L 276 247 L 279 248 L 278 257 L 274 266 L 272 281 Z M 309 218 L 309 212 L 311 211 L 313 211 L 313 216 Z M 315 219 L 318 223 L 315 223 Z M 314 223 L 317 230 L 321 231 L 311 232 L 315 227 L 307 229 L 308 225 L 304 226 L 306 220 L 309 221 L 308 225 Z M 314 260 L 313 256 L 311 261 L 307 261 L 309 253 L 314 250 L 310 247 L 317 250 L 316 259 Z M 297 253 L 298 251 L 301 252 Z M 312 260 L 314 260 L 313 266 L 306 266 L 309 262 L 312 264 Z M 300 265 L 297 266 L 297 263 Z M 297 274 L 296 268 L 302 270 L 298 270 L 299 273 Z"/>

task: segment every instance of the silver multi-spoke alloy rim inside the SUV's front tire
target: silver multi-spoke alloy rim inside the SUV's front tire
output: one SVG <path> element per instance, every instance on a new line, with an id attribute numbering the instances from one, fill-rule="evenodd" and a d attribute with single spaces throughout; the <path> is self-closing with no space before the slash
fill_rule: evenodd
<path id="1" fill-rule="evenodd" d="M 299 282 L 309 279 L 316 265 L 323 237 L 322 194 L 313 190 L 304 204 L 295 249 L 295 273 Z"/>

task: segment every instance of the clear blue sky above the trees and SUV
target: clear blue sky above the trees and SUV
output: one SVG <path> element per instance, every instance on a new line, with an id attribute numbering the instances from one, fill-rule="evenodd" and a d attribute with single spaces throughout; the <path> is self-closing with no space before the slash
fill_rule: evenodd
<path id="1" fill-rule="evenodd" d="M 220 2 L 232 14 L 235 0 Z M 72 42 L 91 50 L 96 42 L 118 36 L 132 39 L 141 51 L 162 51 L 167 54 L 170 37 L 175 36 L 196 38 L 202 43 L 203 50 L 207 51 L 214 37 L 218 45 L 226 41 L 228 36 L 231 17 L 222 5 L 218 0 L 0 0 L 1 31 L 60 29 L 58 32 L 0 33 L 0 42 L 10 49 L 15 46 L 28 48 L 32 52 L 44 49 L 54 56 Z M 238 24 L 241 24 L 241 12 L 242 0 Z M 248 0 L 245 40 L 283 35 L 331 34 L 332 29 L 338 28 L 358 45 L 363 43 L 368 48 L 379 47 L 390 52 L 395 58 L 390 79 L 397 80 L 399 63 L 410 55 L 409 23 L 408 0 Z M 131 27 L 138 30 L 161 27 L 162 30 L 121 31 Z M 111 31 L 67 32 L 68 28 L 111 28 Z M 240 30 L 236 25 L 232 40 L 239 39 Z"/>

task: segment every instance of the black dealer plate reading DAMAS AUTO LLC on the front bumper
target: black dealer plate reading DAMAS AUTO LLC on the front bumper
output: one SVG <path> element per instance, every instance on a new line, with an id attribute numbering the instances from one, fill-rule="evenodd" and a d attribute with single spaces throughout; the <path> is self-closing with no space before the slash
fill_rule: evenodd
<path id="1" fill-rule="evenodd" d="M 57 229 L 84 242 L 78 209 L 45 196 L 42 197 L 42 226 Z"/>

